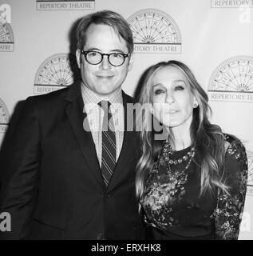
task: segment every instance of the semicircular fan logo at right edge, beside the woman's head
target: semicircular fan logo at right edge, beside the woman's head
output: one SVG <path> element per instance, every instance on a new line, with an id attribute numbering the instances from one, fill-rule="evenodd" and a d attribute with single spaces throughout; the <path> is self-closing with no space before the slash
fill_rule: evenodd
<path id="1" fill-rule="evenodd" d="M 216 102 L 253 102 L 253 58 L 238 56 L 219 65 L 211 75 L 208 96 Z"/>

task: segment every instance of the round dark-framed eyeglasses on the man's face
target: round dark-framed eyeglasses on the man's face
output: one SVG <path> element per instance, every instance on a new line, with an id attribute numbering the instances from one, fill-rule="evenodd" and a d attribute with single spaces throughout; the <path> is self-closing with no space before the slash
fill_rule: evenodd
<path id="1" fill-rule="evenodd" d="M 99 51 L 95 50 L 81 50 L 81 53 L 85 55 L 85 60 L 91 65 L 101 63 L 104 56 L 107 56 L 108 61 L 112 66 L 121 66 L 125 62 L 125 58 L 130 56 L 130 54 L 121 53 L 101 54 Z"/>

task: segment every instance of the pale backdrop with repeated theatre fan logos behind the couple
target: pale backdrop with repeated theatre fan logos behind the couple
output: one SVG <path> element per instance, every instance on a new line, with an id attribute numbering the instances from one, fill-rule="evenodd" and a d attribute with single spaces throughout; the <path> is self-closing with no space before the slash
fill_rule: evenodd
<path id="1" fill-rule="evenodd" d="M 104 9 L 122 14 L 132 28 L 127 94 L 148 66 L 185 62 L 208 92 L 212 122 L 244 142 L 249 176 L 239 238 L 253 239 L 252 0 L 0 0 L 0 144 L 18 101 L 73 82 L 77 23 Z"/>

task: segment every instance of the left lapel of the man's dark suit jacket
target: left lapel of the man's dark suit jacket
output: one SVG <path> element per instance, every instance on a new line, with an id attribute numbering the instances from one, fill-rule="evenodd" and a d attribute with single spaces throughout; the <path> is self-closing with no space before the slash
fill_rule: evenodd
<path id="1" fill-rule="evenodd" d="M 65 100 L 67 101 L 65 112 L 72 127 L 73 134 L 76 137 L 77 144 L 86 162 L 88 162 L 90 166 L 90 171 L 96 176 L 97 181 L 104 186 L 93 136 L 90 131 L 84 129 L 84 125 L 89 126 L 89 122 L 86 118 L 86 114 L 83 113 L 84 102 L 81 97 L 80 83 L 73 84 L 73 86 L 69 88 L 69 93 Z"/>

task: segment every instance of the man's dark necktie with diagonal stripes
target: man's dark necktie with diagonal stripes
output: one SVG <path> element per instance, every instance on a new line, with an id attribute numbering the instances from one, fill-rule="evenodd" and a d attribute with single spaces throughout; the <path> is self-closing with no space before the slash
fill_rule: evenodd
<path id="1" fill-rule="evenodd" d="M 98 105 L 104 110 L 102 124 L 101 172 L 105 181 L 105 186 L 108 186 L 109 180 L 116 165 L 116 136 L 113 125 L 113 117 L 109 112 L 110 102 L 101 101 L 98 103 Z"/>

